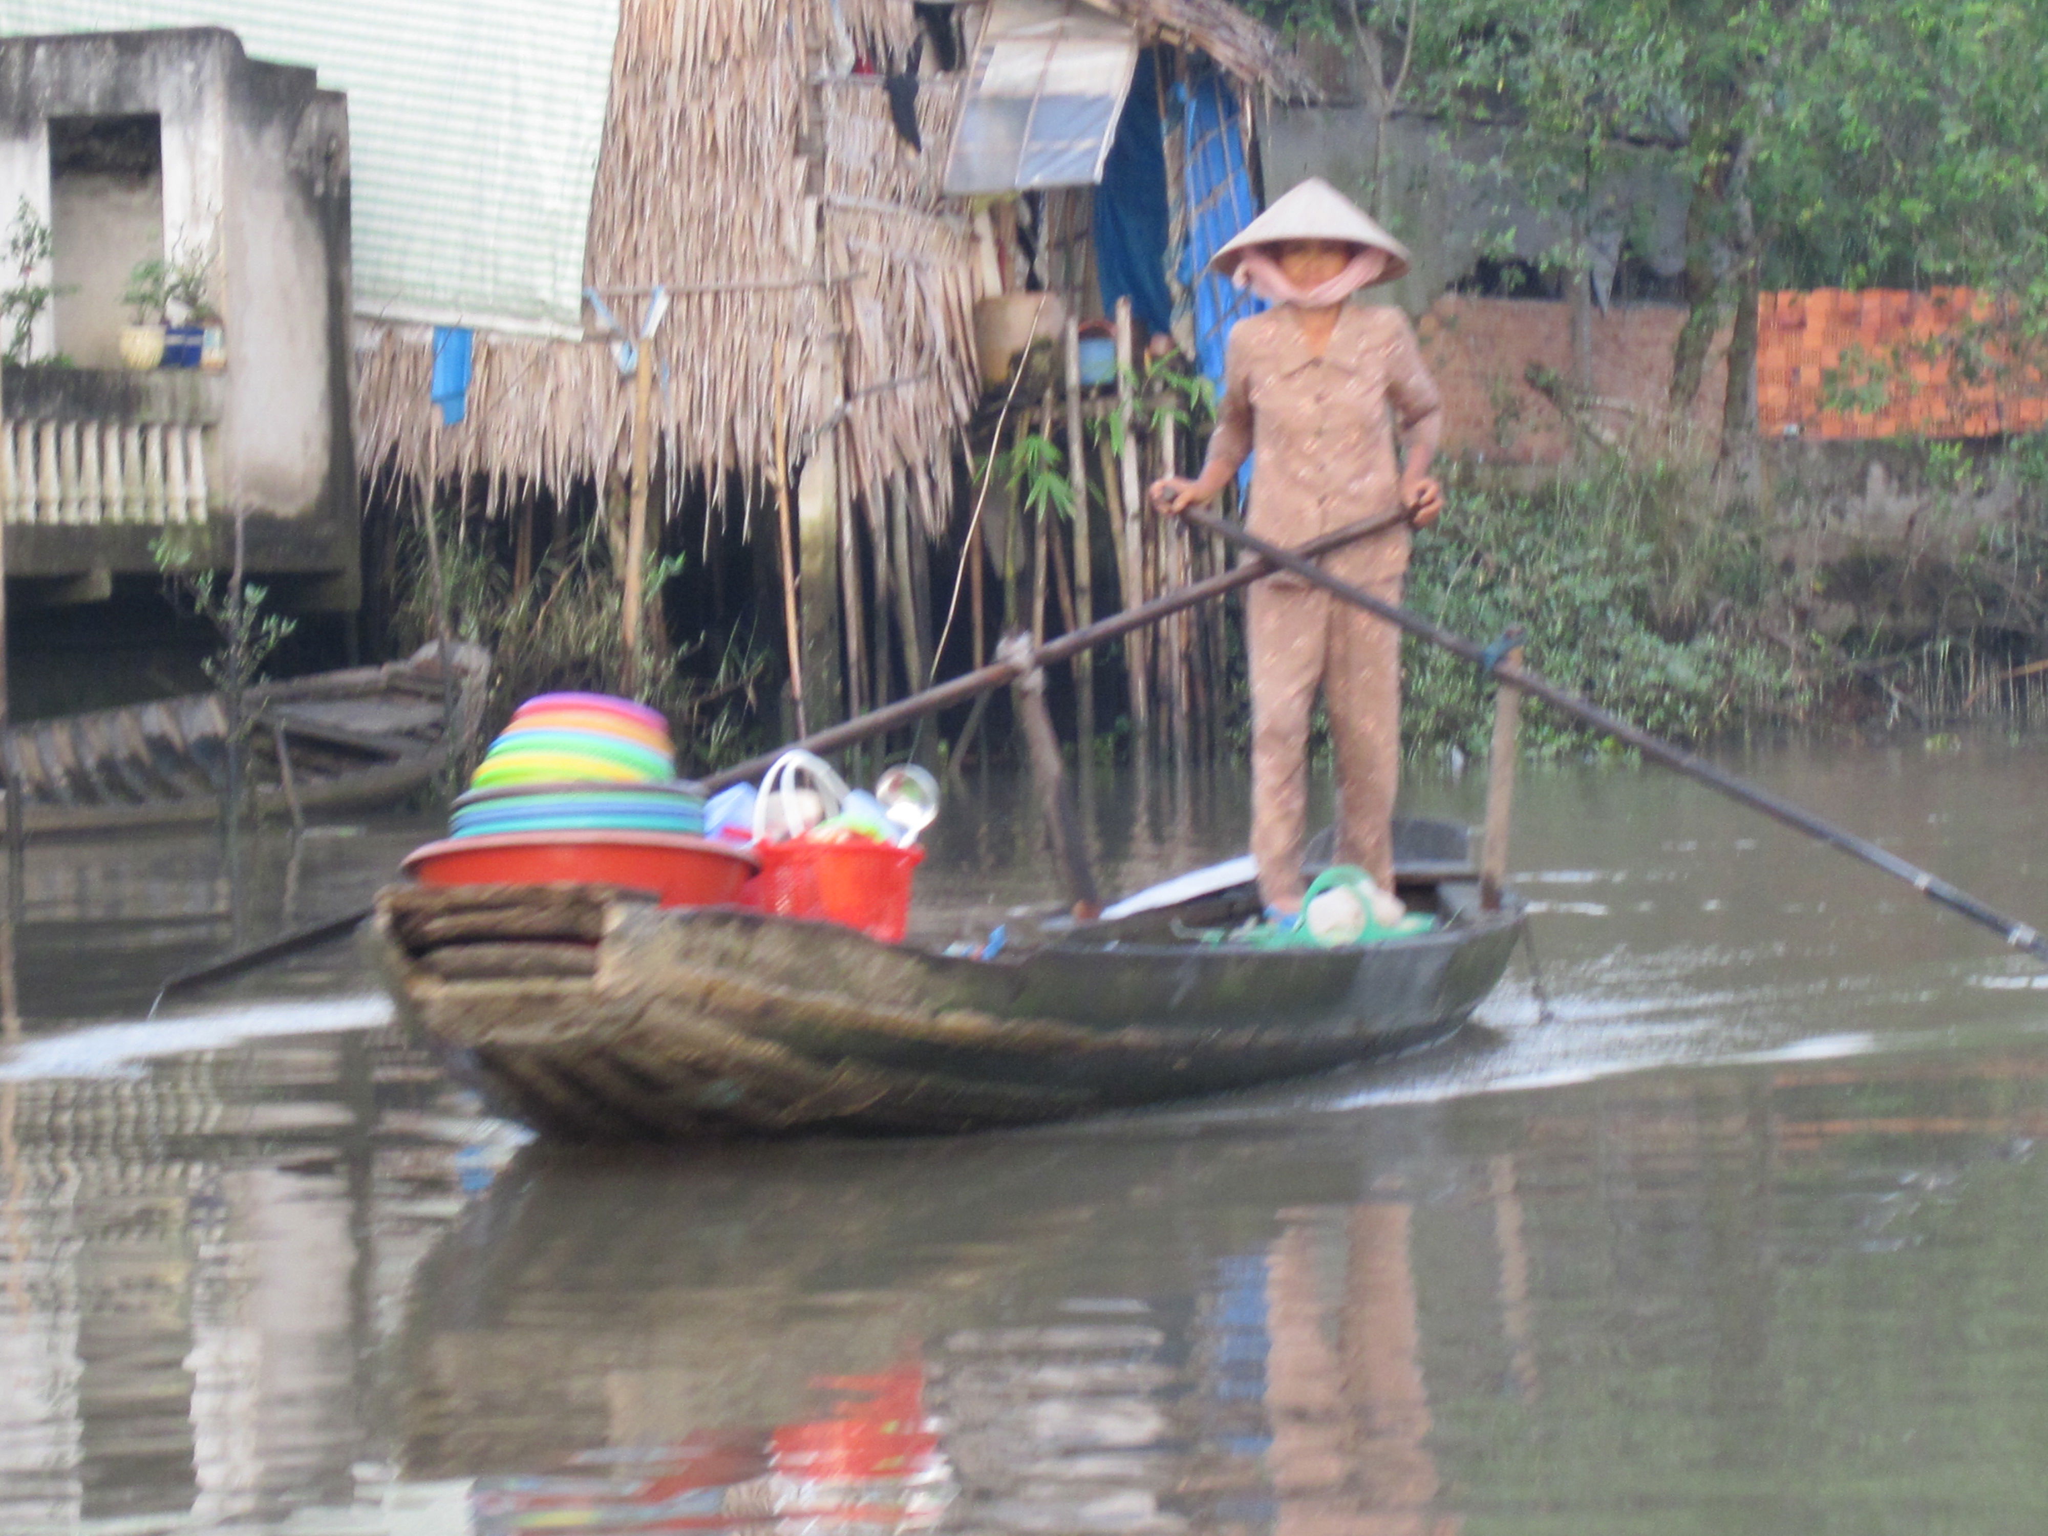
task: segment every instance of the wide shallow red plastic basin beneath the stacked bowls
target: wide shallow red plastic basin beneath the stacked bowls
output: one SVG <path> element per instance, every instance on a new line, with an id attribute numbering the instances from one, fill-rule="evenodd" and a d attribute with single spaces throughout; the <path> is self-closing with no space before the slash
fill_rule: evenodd
<path id="1" fill-rule="evenodd" d="M 621 885 L 664 907 L 733 901 L 756 868 L 745 848 L 676 831 L 500 831 L 406 854 L 420 885 Z"/>

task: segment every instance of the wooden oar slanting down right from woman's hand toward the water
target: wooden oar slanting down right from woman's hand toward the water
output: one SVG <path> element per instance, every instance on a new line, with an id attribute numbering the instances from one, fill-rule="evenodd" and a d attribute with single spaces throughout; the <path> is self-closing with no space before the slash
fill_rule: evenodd
<path id="1" fill-rule="evenodd" d="M 1999 911 L 1993 911 L 1982 901 L 1972 897 L 1968 891 L 1960 891 L 1948 881 L 1939 879 L 1937 874 L 1929 874 L 1917 864 L 1909 864 L 1907 860 L 1898 858 L 1898 854 L 1890 854 L 1878 848 L 1874 842 L 1858 838 L 1853 831 L 1843 831 L 1835 823 L 1823 821 L 1802 805 L 1794 805 L 1792 801 L 1780 799 L 1778 795 L 1772 795 L 1765 788 L 1757 788 L 1755 784 L 1737 778 L 1735 774 L 1724 772 L 1714 764 L 1692 756 L 1690 752 L 1681 752 L 1669 741 L 1661 741 L 1649 731 L 1630 725 L 1620 715 L 1610 715 L 1589 698 L 1579 698 L 1577 694 L 1565 692 L 1554 682 L 1546 682 L 1528 668 L 1513 666 L 1505 657 L 1493 657 L 1483 645 L 1468 641 L 1462 635 L 1454 635 L 1442 625 L 1430 623 L 1421 614 L 1409 612 L 1407 608 L 1401 608 L 1393 602 L 1374 598 L 1370 592 L 1331 575 L 1321 565 L 1317 565 L 1311 559 L 1303 559 L 1294 551 L 1280 549 L 1278 545 L 1272 545 L 1266 539 L 1260 539 L 1257 535 L 1245 532 L 1243 528 L 1225 522 L 1223 518 L 1212 518 L 1206 512 L 1182 512 L 1182 516 L 1194 526 L 1206 528 L 1208 532 L 1217 535 L 1225 543 L 1257 555 L 1268 565 L 1292 571 L 1311 586 L 1319 586 L 1331 596 L 1343 598 L 1346 602 L 1364 608 L 1366 612 L 1376 614 L 1391 625 L 1405 629 L 1409 635 L 1415 635 L 1417 639 L 1425 639 L 1432 645 L 1444 647 L 1452 655 L 1470 662 L 1481 672 L 1493 674 L 1501 682 L 1520 688 L 1532 698 L 1544 700 L 1546 705 L 1550 705 L 1550 709 L 1571 715 L 1573 719 L 1585 721 L 1597 731 L 1606 731 L 1616 741 L 1632 745 L 1645 758 L 1661 762 L 1665 768 L 1673 768 L 1686 774 L 1688 778 L 1706 784 L 1708 788 L 1720 791 L 1729 799 L 1739 801 L 1753 811 L 1761 811 L 1774 821 L 1782 821 L 1784 825 L 1796 831 L 1804 831 L 1808 838 L 1817 838 L 1819 842 L 1825 842 L 1829 848 L 1839 848 L 1851 858 L 1860 858 L 1866 864 L 1884 870 L 1892 879 L 1905 881 L 1929 901 L 1935 901 L 1948 907 L 1950 911 L 1960 913 L 1970 922 L 1982 924 L 1985 928 L 1993 930 L 2013 948 L 2025 950 L 2036 961 L 2048 961 L 2048 940 L 2044 940 L 2036 928 L 2015 922 Z"/>

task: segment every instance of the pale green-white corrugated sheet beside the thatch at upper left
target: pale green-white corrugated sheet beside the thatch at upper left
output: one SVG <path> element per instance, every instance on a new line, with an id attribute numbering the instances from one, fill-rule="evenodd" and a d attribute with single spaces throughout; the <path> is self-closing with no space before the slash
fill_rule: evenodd
<path id="1" fill-rule="evenodd" d="M 145 27 L 348 92 L 358 313 L 582 332 L 618 0 L 0 0 L 0 35 Z"/>

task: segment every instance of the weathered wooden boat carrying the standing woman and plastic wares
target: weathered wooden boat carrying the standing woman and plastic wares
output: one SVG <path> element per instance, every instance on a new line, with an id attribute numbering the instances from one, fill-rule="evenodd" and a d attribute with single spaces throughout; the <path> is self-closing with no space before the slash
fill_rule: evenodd
<path id="1" fill-rule="evenodd" d="M 1257 909 L 1249 885 L 1133 901 L 987 961 L 590 885 L 389 887 L 367 942 L 403 1022 L 543 1135 L 948 1133 L 1456 1030 L 1499 981 L 1520 909 L 1481 909 L 1464 827 L 1401 823 L 1397 858 L 1401 897 L 1438 930 L 1331 950 L 1202 942 Z"/>

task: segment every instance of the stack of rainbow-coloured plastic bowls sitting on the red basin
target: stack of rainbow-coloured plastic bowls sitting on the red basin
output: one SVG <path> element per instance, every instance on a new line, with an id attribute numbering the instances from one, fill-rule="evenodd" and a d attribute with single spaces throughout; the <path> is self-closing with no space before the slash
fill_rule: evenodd
<path id="1" fill-rule="evenodd" d="M 610 694 L 541 694 L 516 711 L 455 803 L 451 838 L 664 831 L 698 838 L 705 795 L 676 778 L 668 721 Z"/>

